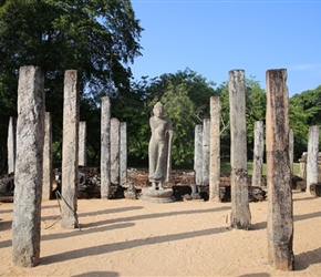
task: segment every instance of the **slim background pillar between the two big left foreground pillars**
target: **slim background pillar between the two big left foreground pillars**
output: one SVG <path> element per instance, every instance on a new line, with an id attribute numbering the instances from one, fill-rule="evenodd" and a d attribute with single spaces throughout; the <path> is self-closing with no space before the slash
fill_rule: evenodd
<path id="1" fill-rule="evenodd" d="M 44 119 L 44 145 L 43 145 L 43 184 L 42 199 L 49 201 L 52 192 L 52 125 L 51 115 L 45 113 Z"/>

